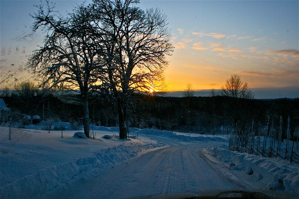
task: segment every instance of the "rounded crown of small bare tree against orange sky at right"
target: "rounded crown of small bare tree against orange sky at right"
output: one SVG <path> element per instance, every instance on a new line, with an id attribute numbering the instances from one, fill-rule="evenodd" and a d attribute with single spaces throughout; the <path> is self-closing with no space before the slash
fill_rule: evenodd
<path id="1" fill-rule="evenodd" d="M 239 75 L 231 75 L 221 87 L 220 95 L 232 98 L 253 99 L 254 95 L 248 87 L 248 83 L 242 81 Z"/>

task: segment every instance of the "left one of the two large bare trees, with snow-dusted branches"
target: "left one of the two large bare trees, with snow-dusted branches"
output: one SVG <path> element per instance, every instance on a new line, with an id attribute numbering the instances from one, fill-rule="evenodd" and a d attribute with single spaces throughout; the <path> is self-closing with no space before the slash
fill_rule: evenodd
<path id="1" fill-rule="evenodd" d="M 54 5 L 49 1 L 35 7 L 38 12 L 32 16 L 35 20 L 33 32 L 42 29 L 46 36 L 44 46 L 30 56 L 29 64 L 43 85 L 55 88 L 63 82 L 65 88 L 79 92 L 84 110 L 84 133 L 89 137 L 88 91 L 93 85 L 101 84 L 95 69 L 102 67 L 91 14 L 84 5 L 66 17 L 56 14 L 58 12 L 53 11 Z"/>

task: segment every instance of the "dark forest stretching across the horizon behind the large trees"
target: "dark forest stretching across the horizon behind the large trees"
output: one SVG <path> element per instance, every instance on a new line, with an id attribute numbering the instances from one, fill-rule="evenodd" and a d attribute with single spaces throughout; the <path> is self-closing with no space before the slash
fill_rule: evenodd
<path id="1" fill-rule="evenodd" d="M 117 105 L 111 95 L 103 92 L 91 93 L 89 96 L 91 124 L 118 126 L 118 112 L 115 108 Z M 1 98 L 11 109 L 10 112 L 2 112 L 2 123 L 7 122 L 9 118 L 19 123 L 24 115 L 38 115 L 45 121 L 82 125 L 83 107 L 80 96 L 71 91 L 33 89 L 15 90 L 11 94 L 3 91 Z M 299 124 L 298 98 L 257 100 L 231 98 L 214 93 L 211 93 L 210 97 L 167 97 L 152 93 L 135 93 L 126 109 L 128 127 L 211 135 L 242 132 L 244 140 L 252 130 L 256 135 L 267 131 L 267 123 L 275 130 L 278 138 L 280 117 L 282 139 L 286 138 L 289 117 L 290 139 L 293 140 Z M 267 134 L 269 135 L 269 131 Z"/>

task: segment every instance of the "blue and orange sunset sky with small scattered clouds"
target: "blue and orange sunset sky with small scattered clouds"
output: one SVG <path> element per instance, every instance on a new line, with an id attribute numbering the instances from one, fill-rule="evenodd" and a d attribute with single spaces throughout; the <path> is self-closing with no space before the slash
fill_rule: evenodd
<path id="1" fill-rule="evenodd" d="M 83 1 L 52 1 L 64 14 Z M 87 3 L 91 1 L 86 1 Z M 141 1 L 168 17 L 175 46 L 165 71 L 169 91 L 190 83 L 197 93 L 218 90 L 232 74 L 256 98 L 299 96 L 299 1 Z M 33 36 L 34 4 L 0 0 L 0 86 L 30 78 L 26 55 L 42 44 Z M 200 94 L 198 94 L 200 95 Z"/>

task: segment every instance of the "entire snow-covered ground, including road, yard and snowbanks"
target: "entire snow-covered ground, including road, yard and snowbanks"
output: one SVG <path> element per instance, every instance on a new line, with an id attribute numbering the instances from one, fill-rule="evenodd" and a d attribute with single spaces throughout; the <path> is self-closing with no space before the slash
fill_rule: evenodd
<path id="1" fill-rule="evenodd" d="M 82 139 L 73 137 L 80 130 L 64 125 L 63 138 L 40 124 L 12 128 L 11 140 L 9 128 L 1 127 L 1 198 L 195 196 L 236 189 L 298 196 L 298 166 L 216 147 L 227 148 L 222 136 L 134 128 L 130 135 L 138 139 L 119 140 L 118 128 L 92 126 L 96 139 Z"/>

